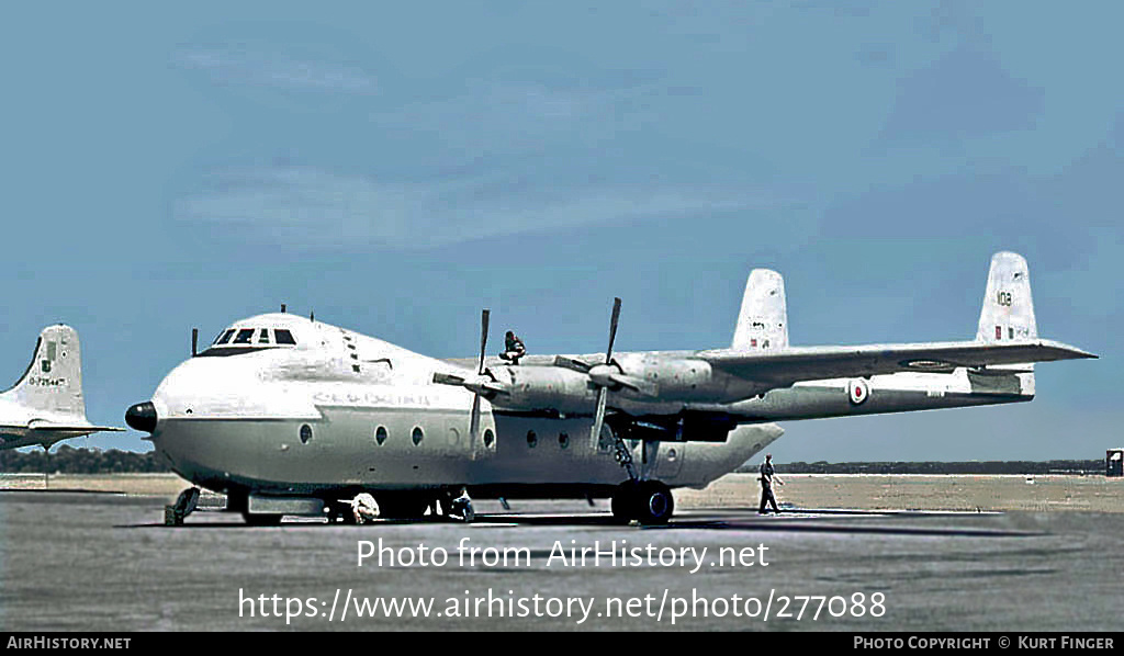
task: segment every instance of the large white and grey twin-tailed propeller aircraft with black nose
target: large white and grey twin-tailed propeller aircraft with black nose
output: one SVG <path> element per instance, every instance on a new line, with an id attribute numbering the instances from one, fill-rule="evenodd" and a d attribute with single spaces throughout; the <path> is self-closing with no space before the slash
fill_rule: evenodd
<path id="1" fill-rule="evenodd" d="M 780 437 L 770 421 L 1028 401 L 1028 363 L 1095 357 L 1040 339 L 1026 262 L 991 261 L 972 341 L 788 345 L 783 281 L 749 279 L 731 348 L 443 361 L 271 313 L 236 321 L 126 421 L 250 522 L 282 514 L 472 517 L 477 498 L 610 496 L 662 523 Z M 689 443 L 689 444 L 687 444 Z M 190 510 L 198 490 L 181 496 Z M 352 501 L 348 501 L 348 500 Z M 182 513 L 181 513 L 182 516 Z"/>

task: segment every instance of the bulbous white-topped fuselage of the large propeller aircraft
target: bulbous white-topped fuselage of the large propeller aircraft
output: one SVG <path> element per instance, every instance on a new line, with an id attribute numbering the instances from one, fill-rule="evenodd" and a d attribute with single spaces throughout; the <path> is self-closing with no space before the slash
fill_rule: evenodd
<path id="1" fill-rule="evenodd" d="M 316 494 L 469 486 L 473 495 L 581 496 L 627 479 L 589 413 L 506 413 L 433 383 L 464 370 L 392 344 L 291 315 L 235 324 L 284 327 L 296 345 L 212 347 L 180 364 L 152 403 L 156 449 L 185 479 L 217 491 Z M 248 329 L 248 328 L 246 328 Z M 643 477 L 704 486 L 781 435 L 738 427 L 725 443 L 632 444 Z"/>

